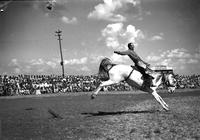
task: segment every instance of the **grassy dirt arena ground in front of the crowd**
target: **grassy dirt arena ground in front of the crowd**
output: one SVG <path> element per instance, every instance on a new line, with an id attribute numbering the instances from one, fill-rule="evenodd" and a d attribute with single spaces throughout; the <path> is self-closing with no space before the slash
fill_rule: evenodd
<path id="1" fill-rule="evenodd" d="M 161 92 L 164 111 L 147 93 L 0 98 L 2 140 L 200 139 L 200 92 Z"/>

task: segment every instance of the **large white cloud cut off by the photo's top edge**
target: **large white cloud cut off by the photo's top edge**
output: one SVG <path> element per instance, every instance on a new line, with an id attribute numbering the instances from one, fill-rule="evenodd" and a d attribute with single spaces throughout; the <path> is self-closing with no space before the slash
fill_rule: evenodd
<path id="1" fill-rule="evenodd" d="M 116 11 L 127 3 L 135 6 L 137 0 L 103 0 L 103 3 L 95 6 L 95 10 L 88 14 L 88 18 L 112 22 L 124 22 L 126 21 L 126 17 L 117 14 Z"/>

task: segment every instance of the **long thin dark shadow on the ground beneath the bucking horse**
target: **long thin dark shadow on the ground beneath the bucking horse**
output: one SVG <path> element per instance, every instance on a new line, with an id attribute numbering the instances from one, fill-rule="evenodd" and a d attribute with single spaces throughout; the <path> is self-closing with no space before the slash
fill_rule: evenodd
<path id="1" fill-rule="evenodd" d="M 141 110 L 141 111 L 115 111 L 115 112 L 84 112 L 81 115 L 87 115 L 88 117 L 92 116 L 106 116 L 106 115 L 122 115 L 122 114 L 142 114 L 142 113 L 155 113 L 160 112 L 160 110 Z"/>

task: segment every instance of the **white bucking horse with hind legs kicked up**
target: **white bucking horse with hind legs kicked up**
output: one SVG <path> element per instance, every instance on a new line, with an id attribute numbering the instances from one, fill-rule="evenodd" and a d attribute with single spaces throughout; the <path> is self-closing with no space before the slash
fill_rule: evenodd
<path id="1" fill-rule="evenodd" d="M 107 78 L 101 78 L 102 73 L 107 74 Z M 167 87 L 168 92 L 174 92 L 176 88 L 176 79 L 174 74 L 162 74 L 160 72 L 153 71 L 150 75 L 151 76 L 149 77 L 152 77 L 150 80 L 149 78 L 145 79 L 136 67 L 130 65 L 113 64 L 109 58 L 104 58 L 99 67 L 99 77 L 102 82 L 96 91 L 91 95 L 91 98 L 94 99 L 104 86 L 126 81 L 130 86 L 152 94 L 156 101 L 160 103 L 165 110 L 169 110 L 168 105 L 158 95 L 156 89 L 161 84 L 164 84 Z M 152 86 L 152 83 L 154 86 Z"/>

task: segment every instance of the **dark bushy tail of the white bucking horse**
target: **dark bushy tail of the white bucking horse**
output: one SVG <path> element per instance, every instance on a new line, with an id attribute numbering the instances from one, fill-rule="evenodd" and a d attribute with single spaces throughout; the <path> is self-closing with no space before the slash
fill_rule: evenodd
<path id="1" fill-rule="evenodd" d="M 111 64 L 112 63 L 109 58 L 104 58 L 101 60 L 101 63 L 99 65 L 99 72 L 98 72 L 98 76 L 100 80 L 107 81 L 109 79 L 109 74 L 108 74 L 109 70 L 107 69 L 107 66 Z"/>

